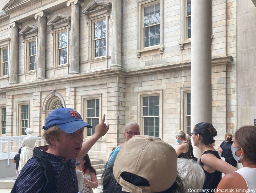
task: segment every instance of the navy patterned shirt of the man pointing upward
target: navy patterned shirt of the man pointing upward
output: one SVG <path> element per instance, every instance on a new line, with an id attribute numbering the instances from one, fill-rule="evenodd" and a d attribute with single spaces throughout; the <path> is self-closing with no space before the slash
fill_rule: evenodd
<path id="1" fill-rule="evenodd" d="M 76 178 L 76 160 L 71 159 L 65 161 L 65 158 L 42 153 L 52 165 L 53 187 L 49 193 L 77 193 L 78 182 Z M 39 159 L 33 156 L 22 168 L 18 176 L 12 192 L 18 193 L 40 193 L 44 189 L 46 178 L 44 176 L 44 168 Z"/>

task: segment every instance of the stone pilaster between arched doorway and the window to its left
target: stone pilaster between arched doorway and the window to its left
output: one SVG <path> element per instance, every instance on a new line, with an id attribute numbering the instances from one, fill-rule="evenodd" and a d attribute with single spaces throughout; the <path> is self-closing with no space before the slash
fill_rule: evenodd
<path id="1" fill-rule="evenodd" d="M 32 114 L 32 129 L 35 135 L 41 136 L 40 128 L 40 101 L 41 101 L 41 92 L 33 92 L 33 114 Z M 32 106 L 32 105 L 31 105 Z M 31 121 L 31 120 L 30 120 Z"/>

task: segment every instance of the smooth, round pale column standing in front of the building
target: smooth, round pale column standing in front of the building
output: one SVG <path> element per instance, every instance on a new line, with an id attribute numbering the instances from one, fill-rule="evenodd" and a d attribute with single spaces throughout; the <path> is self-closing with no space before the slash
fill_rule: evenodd
<path id="1" fill-rule="evenodd" d="M 191 131 L 212 123 L 212 1 L 191 1 Z M 195 156 L 201 157 L 198 148 Z"/>

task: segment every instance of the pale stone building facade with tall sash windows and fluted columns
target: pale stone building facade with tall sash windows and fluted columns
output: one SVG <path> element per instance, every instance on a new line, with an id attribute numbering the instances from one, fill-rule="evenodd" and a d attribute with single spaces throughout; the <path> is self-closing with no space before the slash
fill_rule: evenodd
<path id="1" fill-rule="evenodd" d="M 10 0 L 0 13 L 1 135 L 22 136 L 29 126 L 41 136 L 47 114 L 65 106 L 93 126 L 106 114 L 110 129 L 92 157 L 106 160 L 130 121 L 141 134 L 177 147 L 174 133 L 193 128 L 191 6 L 190 0 Z M 236 0 L 212 0 L 212 63 L 205 65 L 212 68 L 216 146 L 237 129 L 236 17 Z M 86 130 L 85 140 L 93 132 Z"/>

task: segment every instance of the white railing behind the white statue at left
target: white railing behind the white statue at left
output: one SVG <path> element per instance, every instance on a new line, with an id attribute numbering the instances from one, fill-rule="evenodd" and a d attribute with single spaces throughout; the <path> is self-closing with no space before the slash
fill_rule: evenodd
<path id="1" fill-rule="evenodd" d="M 10 155 L 10 152 L 18 152 L 22 143 L 22 140 L 26 136 L 4 136 L 0 137 L 0 159 L 7 159 L 7 165 L 10 165 L 10 159 L 13 159 L 13 156 Z M 45 145 L 45 140 L 41 137 L 36 137 L 37 146 Z"/>

